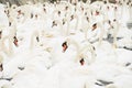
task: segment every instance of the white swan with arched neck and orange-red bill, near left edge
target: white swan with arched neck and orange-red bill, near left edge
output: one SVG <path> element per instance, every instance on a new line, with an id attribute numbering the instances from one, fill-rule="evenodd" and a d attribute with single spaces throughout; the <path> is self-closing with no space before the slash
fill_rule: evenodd
<path id="1" fill-rule="evenodd" d="M 3 67 L 2 76 L 4 75 L 4 70 L 7 69 L 7 64 L 15 57 L 13 43 L 15 46 L 18 46 L 18 40 L 15 36 L 4 36 L 1 38 L 0 45 L 2 46 L 2 48 L 0 55 L 1 55 L 1 66 Z"/>

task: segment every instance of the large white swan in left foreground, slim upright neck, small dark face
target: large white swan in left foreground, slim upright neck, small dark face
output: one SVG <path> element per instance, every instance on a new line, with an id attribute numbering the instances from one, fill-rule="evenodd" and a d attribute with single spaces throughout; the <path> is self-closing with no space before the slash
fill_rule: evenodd
<path id="1" fill-rule="evenodd" d="M 3 63 L 3 77 L 14 77 L 21 72 L 19 67 L 23 67 L 28 70 L 31 70 L 31 69 L 37 69 L 37 66 L 40 67 L 42 63 L 44 64 L 43 66 L 45 67 L 45 69 L 46 67 L 48 68 L 51 66 L 51 61 L 50 57 L 47 56 L 48 53 L 45 53 L 44 51 L 42 52 L 42 48 L 38 47 L 36 43 L 33 43 L 35 42 L 34 37 L 37 37 L 36 41 L 40 41 L 37 32 L 34 32 L 32 34 L 32 37 L 30 37 L 31 44 L 29 48 L 26 48 L 28 43 L 25 44 L 25 46 L 20 45 L 15 52 L 16 55 L 12 56 L 12 59 L 10 59 L 8 63 Z"/>

